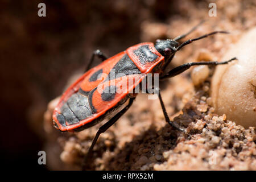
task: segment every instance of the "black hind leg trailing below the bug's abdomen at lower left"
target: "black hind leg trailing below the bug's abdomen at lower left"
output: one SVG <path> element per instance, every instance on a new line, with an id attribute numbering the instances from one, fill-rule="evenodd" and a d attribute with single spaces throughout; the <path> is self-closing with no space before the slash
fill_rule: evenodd
<path id="1" fill-rule="evenodd" d="M 90 160 L 90 158 L 92 156 L 93 147 L 96 144 L 98 137 L 100 137 L 100 134 L 102 134 L 106 130 L 108 130 L 110 126 L 114 125 L 114 123 L 117 122 L 117 120 L 119 118 L 121 118 L 121 116 L 123 114 L 125 114 L 126 111 L 130 108 L 130 106 L 133 104 L 133 101 L 134 101 L 134 98 L 130 98 L 129 104 L 125 108 L 123 108 L 121 111 L 119 111 L 119 113 L 114 115 L 113 118 L 111 118 L 108 122 L 106 122 L 103 126 L 101 126 L 100 129 L 98 129 L 98 131 L 97 131 L 97 133 L 96 133 L 96 135 L 95 135 L 95 137 L 93 139 L 93 142 L 92 142 L 92 144 L 91 144 L 91 146 L 89 148 L 88 154 L 85 157 L 84 164 L 82 164 L 82 169 L 85 169 L 86 164 L 89 162 L 89 160 Z"/>

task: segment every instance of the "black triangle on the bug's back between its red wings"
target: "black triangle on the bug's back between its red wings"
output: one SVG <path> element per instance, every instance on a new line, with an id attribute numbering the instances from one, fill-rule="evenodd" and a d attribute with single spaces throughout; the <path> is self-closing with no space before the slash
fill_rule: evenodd
<path id="1" fill-rule="evenodd" d="M 111 69 L 105 81 L 113 80 L 125 75 L 141 74 L 141 71 L 136 67 L 130 57 L 125 54 Z"/>

